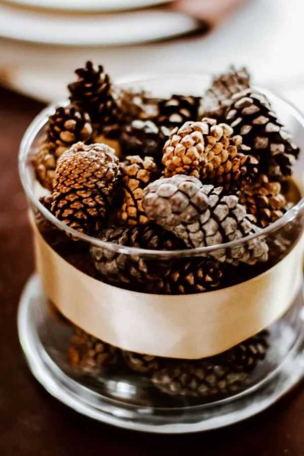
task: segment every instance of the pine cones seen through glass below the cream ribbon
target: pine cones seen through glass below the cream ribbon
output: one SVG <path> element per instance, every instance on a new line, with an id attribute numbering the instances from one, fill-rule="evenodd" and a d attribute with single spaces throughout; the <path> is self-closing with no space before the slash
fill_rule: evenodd
<path id="1" fill-rule="evenodd" d="M 211 398 L 237 393 L 252 382 L 251 374 L 269 347 L 269 332 L 261 331 L 241 344 L 210 358 L 178 360 L 120 350 L 74 327 L 68 347 L 71 367 L 81 374 L 118 367 L 144 375 L 170 396 Z"/>

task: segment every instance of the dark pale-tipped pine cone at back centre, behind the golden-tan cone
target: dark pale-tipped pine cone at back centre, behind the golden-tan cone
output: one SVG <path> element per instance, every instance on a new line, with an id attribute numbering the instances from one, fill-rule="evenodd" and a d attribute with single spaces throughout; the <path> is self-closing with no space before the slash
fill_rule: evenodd
<path id="1" fill-rule="evenodd" d="M 156 122 L 172 129 L 187 121 L 196 121 L 200 102 L 200 97 L 172 95 L 169 100 L 159 102 L 159 116 Z"/>

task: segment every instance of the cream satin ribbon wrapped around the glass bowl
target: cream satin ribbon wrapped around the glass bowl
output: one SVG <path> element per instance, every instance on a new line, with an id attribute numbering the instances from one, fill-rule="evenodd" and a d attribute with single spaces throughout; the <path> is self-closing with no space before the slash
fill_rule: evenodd
<path id="1" fill-rule="evenodd" d="M 124 290 L 78 271 L 34 225 L 36 268 L 62 314 L 109 344 L 150 355 L 198 359 L 216 355 L 271 325 L 302 282 L 302 242 L 277 265 L 244 283 L 200 294 Z"/>

